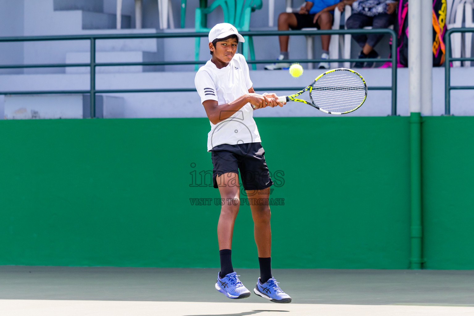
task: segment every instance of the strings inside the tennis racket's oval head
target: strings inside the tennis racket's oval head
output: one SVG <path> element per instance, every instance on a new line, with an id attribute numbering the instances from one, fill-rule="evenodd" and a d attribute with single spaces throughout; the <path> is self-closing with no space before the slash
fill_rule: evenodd
<path id="1" fill-rule="evenodd" d="M 364 81 L 354 72 L 329 72 L 313 83 L 311 100 L 329 112 L 347 112 L 358 108 L 366 96 Z"/>

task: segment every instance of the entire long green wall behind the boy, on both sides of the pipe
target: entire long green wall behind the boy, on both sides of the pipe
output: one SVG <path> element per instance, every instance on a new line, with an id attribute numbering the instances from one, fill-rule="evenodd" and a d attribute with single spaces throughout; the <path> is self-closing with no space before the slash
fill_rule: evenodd
<path id="1" fill-rule="evenodd" d="M 284 173 L 271 195 L 284 199 L 271 206 L 273 267 L 409 267 L 408 117 L 256 121 L 270 171 Z M 473 123 L 423 123 L 428 268 L 474 269 Z M 219 197 L 191 180 L 212 170 L 209 128 L 205 118 L 0 121 L 0 264 L 217 267 L 219 206 L 190 200 Z M 258 266 L 248 206 L 233 263 Z"/>

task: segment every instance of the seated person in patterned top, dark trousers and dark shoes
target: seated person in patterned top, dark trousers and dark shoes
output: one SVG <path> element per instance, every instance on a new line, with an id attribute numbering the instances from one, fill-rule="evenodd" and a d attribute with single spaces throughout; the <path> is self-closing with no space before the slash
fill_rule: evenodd
<path id="1" fill-rule="evenodd" d="M 352 4 L 352 15 L 346 21 L 347 29 L 364 28 L 387 28 L 395 22 L 395 10 L 398 1 L 395 0 L 344 0 L 337 6 L 343 10 L 345 5 Z M 374 50 L 374 46 L 382 39 L 383 34 L 354 34 L 352 38 L 362 48 L 359 59 L 378 58 L 379 54 Z M 355 68 L 374 67 L 374 62 L 356 62 Z"/>

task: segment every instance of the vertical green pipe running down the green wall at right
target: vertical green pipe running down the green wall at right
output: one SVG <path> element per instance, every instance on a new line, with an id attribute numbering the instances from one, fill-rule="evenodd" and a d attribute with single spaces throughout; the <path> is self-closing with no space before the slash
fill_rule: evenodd
<path id="1" fill-rule="evenodd" d="M 410 269 L 421 269 L 423 254 L 421 222 L 421 114 L 419 112 L 410 113 L 410 185 Z"/>

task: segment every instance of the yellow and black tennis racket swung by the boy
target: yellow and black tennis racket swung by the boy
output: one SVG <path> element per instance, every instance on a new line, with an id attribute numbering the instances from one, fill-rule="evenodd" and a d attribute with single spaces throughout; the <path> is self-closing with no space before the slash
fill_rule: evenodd
<path id="1" fill-rule="evenodd" d="M 310 91 L 308 102 L 297 97 Z M 313 83 L 295 94 L 279 97 L 280 102 L 303 102 L 328 114 L 346 114 L 360 108 L 367 97 L 364 78 L 351 69 L 337 68 L 321 73 Z"/>

